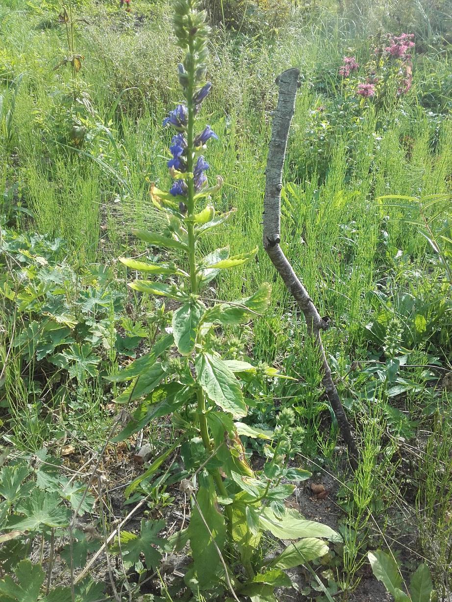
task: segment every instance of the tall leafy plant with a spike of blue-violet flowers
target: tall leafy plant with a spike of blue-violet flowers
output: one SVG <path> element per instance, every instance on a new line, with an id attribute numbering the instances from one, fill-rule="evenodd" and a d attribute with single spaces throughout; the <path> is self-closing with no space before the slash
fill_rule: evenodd
<path id="1" fill-rule="evenodd" d="M 142 399 L 115 440 L 127 438 L 156 417 L 172 415 L 179 436 L 128 486 L 126 495 L 151 479 L 179 450 L 190 475 L 181 482 L 181 490 L 191 501 L 192 515 L 189 526 L 167 544 L 179 551 L 189 544 L 192 562 L 182 586 L 192 591 L 196 600 L 199 592 L 209 591 L 209 600 L 227 595 L 228 600 L 272 601 L 276 600 L 275 588 L 292 586 L 284 569 L 323 556 L 328 545 L 321 538 L 334 541 L 339 536 L 330 527 L 304 520 L 284 503 L 295 489 L 290 482 L 310 476 L 289 466 L 303 440 L 303 431 L 294 427 L 293 411 L 280 412 L 274 432 L 244 421 L 251 401 L 245 399 L 243 384 L 251 376 L 281 375 L 275 368 L 253 365 L 250 358 L 222 359 L 219 349 L 218 329 L 245 327 L 265 311 L 269 285 L 231 302 L 213 303 L 204 293 L 207 283 L 221 270 L 242 266 L 257 252 L 233 255 L 224 247 L 203 256 L 199 248 L 206 232 L 228 222 L 235 213 L 231 209 L 216 215 L 212 196 L 220 190 L 222 179 L 218 176 L 216 184 L 209 185 L 209 165 L 203 153 L 206 143 L 217 136 L 210 126 L 198 128 L 202 102 L 212 87 L 206 82 L 209 28 L 205 19 L 194 0 L 175 2 L 174 31 L 186 54 L 178 67 L 183 101 L 163 122 L 175 131 L 168 161 L 173 184 L 169 191 L 151 184 L 152 203 L 166 213 L 168 227 L 160 233 L 142 229 L 133 233 L 151 246 L 179 254 L 180 261 L 178 265 L 121 259 L 133 270 L 167 278 L 167 282 L 140 279 L 130 287 L 166 297 L 175 309 L 171 329 L 166 329 L 149 353 L 110 377 L 115 382 L 130 381 L 118 397 L 119 403 Z M 240 435 L 267 441 L 262 470 L 254 471 L 248 464 Z M 264 532 L 291 543 L 266 559 L 262 553 Z"/>

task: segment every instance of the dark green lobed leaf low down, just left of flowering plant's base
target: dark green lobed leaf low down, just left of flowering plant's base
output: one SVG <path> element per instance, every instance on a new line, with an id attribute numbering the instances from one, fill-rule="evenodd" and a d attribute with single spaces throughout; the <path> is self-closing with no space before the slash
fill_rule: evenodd
<path id="1" fill-rule="evenodd" d="M 115 539 L 115 543 L 111 547 L 111 553 L 121 554 L 122 561 L 126 569 L 131 568 L 140 559 L 140 554 L 143 553 L 146 560 L 146 567 L 148 570 L 157 569 L 162 560 L 162 554 L 157 547 L 161 550 L 166 549 L 166 543 L 163 539 L 157 537 L 159 533 L 165 527 L 165 521 L 141 521 L 140 535 L 122 531 Z"/>

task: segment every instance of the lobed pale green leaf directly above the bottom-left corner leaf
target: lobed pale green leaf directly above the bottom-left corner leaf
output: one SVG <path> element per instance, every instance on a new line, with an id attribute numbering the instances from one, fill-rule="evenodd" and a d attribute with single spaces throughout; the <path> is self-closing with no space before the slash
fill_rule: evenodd
<path id="1" fill-rule="evenodd" d="M 24 517 L 10 517 L 8 528 L 38 531 L 43 527 L 66 527 L 69 524 L 69 510 L 61 504 L 61 498 L 55 492 L 33 489 L 28 497 L 17 503 L 15 510 Z"/>

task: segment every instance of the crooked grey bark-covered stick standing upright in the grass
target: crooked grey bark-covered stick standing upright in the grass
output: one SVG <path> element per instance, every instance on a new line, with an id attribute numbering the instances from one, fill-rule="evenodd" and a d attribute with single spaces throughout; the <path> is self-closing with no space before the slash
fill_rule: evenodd
<path id="1" fill-rule="evenodd" d="M 328 324 L 319 315 L 306 288 L 295 274 L 283 250 L 281 241 L 281 189 L 283 178 L 284 158 L 286 157 L 287 138 L 289 137 L 290 122 L 295 112 L 295 98 L 298 89 L 297 68 L 287 69 L 276 79 L 279 87 L 278 105 L 273 117 L 271 140 L 269 144 L 267 167 L 265 171 L 265 198 L 263 214 L 263 246 L 269 255 L 277 272 L 283 279 L 287 289 L 297 301 L 306 319 L 309 335 L 313 337 L 322 362 L 322 385 L 325 388 L 328 400 L 336 416 L 337 424 L 341 430 L 349 452 L 352 468 L 357 466 L 358 450 L 350 423 L 337 393 L 330 366 L 328 365 L 325 350 L 322 344 L 321 331 L 328 328 Z"/>

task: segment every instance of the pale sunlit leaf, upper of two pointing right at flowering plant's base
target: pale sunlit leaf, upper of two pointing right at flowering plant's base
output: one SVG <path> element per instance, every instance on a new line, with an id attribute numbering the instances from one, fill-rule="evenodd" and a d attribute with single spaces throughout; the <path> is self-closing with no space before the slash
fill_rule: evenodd
<path id="1" fill-rule="evenodd" d="M 299 539 L 302 537 L 324 537 L 330 541 L 342 541 L 341 536 L 328 525 L 307 521 L 296 510 L 286 510 L 283 518 L 277 518 L 274 512 L 266 508 L 260 517 L 262 528 L 278 539 Z"/>

